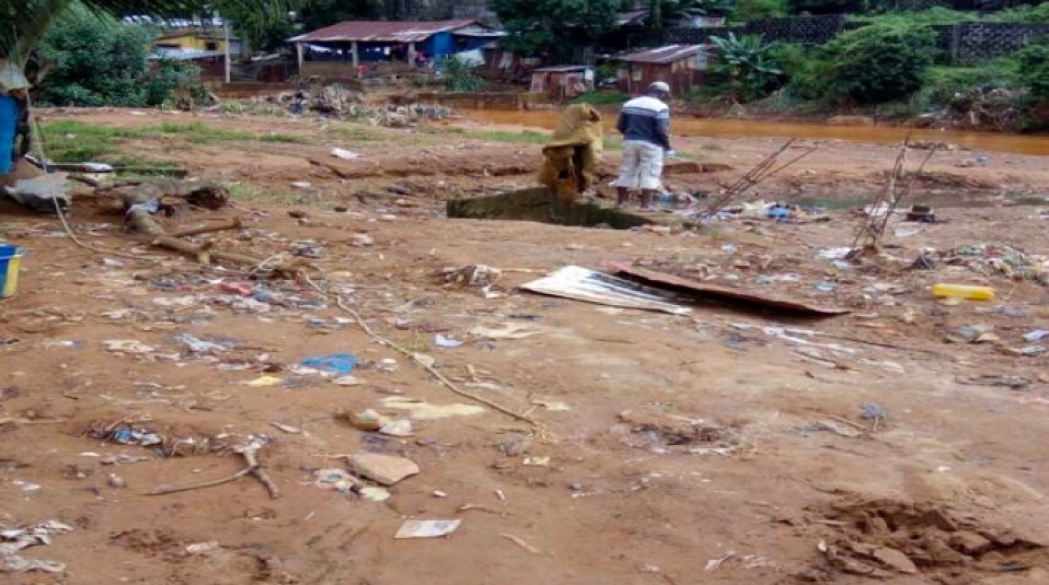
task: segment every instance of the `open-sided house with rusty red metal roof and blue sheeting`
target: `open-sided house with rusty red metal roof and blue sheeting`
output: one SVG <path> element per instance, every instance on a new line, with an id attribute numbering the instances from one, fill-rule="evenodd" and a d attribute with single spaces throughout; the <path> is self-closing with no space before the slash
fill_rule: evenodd
<path id="1" fill-rule="evenodd" d="M 505 33 L 474 20 L 345 21 L 289 39 L 300 77 L 353 78 L 361 63 L 413 63 L 481 49 Z"/>

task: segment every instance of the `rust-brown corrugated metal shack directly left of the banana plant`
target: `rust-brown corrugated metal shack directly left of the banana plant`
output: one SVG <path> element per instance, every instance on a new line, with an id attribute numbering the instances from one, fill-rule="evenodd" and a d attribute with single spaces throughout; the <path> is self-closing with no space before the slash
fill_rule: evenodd
<path id="1" fill-rule="evenodd" d="M 703 83 L 711 45 L 667 45 L 619 57 L 620 89 L 638 94 L 649 84 L 664 81 L 673 95 L 681 95 Z"/>

